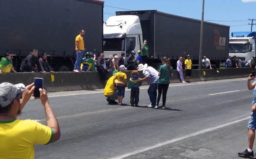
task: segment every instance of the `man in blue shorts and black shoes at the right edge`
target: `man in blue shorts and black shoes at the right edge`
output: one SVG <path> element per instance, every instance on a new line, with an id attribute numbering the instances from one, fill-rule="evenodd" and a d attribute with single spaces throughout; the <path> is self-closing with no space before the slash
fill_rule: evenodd
<path id="1" fill-rule="evenodd" d="M 247 80 L 247 87 L 249 90 L 254 89 L 253 98 L 252 98 L 252 114 L 248 123 L 248 148 L 244 152 L 238 153 L 238 156 L 245 158 L 254 158 L 253 154 L 253 142 L 255 139 L 255 130 L 256 130 L 256 81 L 251 83 L 251 80 L 254 80 L 252 74 L 249 75 Z"/>

